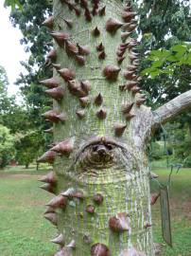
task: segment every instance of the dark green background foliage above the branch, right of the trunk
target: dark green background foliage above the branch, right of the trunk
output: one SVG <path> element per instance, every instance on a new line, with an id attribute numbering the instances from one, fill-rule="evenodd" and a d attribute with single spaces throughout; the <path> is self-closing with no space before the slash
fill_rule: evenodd
<path id="1" fill-rule="evenodd" d="M 182 42 L 191 42 L 191 6 L 189 0 L 142 1 L 138 14 L 140 17 L 138 32 L 141 35 L 141 45 L 139 46 L 141 52 L 140 72 L 150 67 L 150 61 L 147 59 L 150 51 L 154 50 L 154 53 L 157 54 L 160 52 L 165 57 L 166 50 L 170 50 L 173 46 L 182 45 Z M 153 64 L 155 64 L 155 60 Z M 148 71 L 149 73 L 151 71 L 153 76 L 144 76 L 141 87 L 148 92 L 148 103 L 152 107 L 158 107 L 191 88 L 189 83 L 191 73 L 188 64 L 174 66 L 173 75 L 161 72 L 155 76 L 154 70 Z"/>

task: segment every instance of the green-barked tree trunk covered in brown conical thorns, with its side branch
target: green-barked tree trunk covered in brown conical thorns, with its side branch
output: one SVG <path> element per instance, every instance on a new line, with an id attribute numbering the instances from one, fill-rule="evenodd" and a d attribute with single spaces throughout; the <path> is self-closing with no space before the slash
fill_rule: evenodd
<path id="1" fill-rule="evenodd" d="M 42 84 L 54 143 L 39 162 L 54 166 L 42 188 L 55 194 L 44 213 L 59 230 L 55 256 L 152 256 L 147 143 L 191 106 L 191 91 L 144 106 L 130 1 L 54 0 L 53 12 L 43 25 L 54 74 Z"/>

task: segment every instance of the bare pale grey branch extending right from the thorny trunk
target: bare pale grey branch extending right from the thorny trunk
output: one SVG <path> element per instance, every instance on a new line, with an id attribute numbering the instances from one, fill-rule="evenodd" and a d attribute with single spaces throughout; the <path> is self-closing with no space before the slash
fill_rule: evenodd
<path id="1" fill-rule="evenodd" d="M 191 108 L 191 90 L 182 93 L 172 101 L 168 101 L 165 105 L 153 111 L 152 128 L 156 129 L 160 124 L 174 119 L 183 111 Z"/>

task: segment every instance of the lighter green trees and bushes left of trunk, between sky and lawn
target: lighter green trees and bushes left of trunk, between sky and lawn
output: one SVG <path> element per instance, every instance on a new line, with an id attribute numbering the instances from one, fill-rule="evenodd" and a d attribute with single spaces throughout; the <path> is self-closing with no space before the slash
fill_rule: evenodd
<path id="1" fill-rule="evenodd" d="M 6 71 L 0 66 L 0 168 L 9 164 L 10 159 L 28 166 L 42 155 L 49 137 L 36 129 L 28 108 L 17 105 L 15 98 L 8 96 L 8 84 Z"/>

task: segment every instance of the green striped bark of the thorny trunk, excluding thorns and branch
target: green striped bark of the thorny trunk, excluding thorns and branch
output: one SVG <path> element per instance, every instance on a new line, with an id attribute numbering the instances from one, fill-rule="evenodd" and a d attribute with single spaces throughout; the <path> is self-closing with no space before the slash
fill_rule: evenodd
<path id="1" fill-rule="evenodd" d="M 89 81 L 91 90 L 87 96 L 88 104 L 85 102 L 85 106 L 81 106 L 74 91 L 71 93 L 68 89 L 68 82 L 64 82 L 59 73 L 54 71 L 54 78 L 65 88 L 63 99 L 54 101 L 54 110 L 57 114 L 66 115 L 64 121 L 56 121 L 54 124 L 54 140 L 61 142 L 70 139 L 73 146 L 67 154 L 62 152 L 62 155 L 57 155 L 54 161 L 57 182 L 54 183 L 53 191 L 57 195 L 62 193 L 67 198 L 67 204 L 64 207 L 61 204 L 59 207 L 50 205 L 57 214 L 57 227 L 63 235 L 64 244 L 69 245 L 73 240 L 76 242 L 75 248 L 63 247 L 62 243 L 62 249 L 55 255 L 152 256 L 149 172 L 145 154 L 152 116 L 147 107 L 138 104 L 140 99 L 144 99 L 143 95 L 133 93 L 133 89 L 127 87 L 120 89 L 121 85 L 132 80 L 138 85 L 138 77 L 129 80 L 124 77 L 128 65 L 136 63 L 130 63 L 132 50 L 126 48 L 123 55 L 126 58 L 121 64 L 116 59 L 117 47 L 131 40 L 130 37 L 125 41 L 121 39 L 121 33 L 128 30 L 127 24 L 113 33 L 106 29 L 111 18 L 124 23 L 122 12 L 127 3 L 102 0 L 98 4 L 98 10 L 106 6 L 105 14 L 91 14 L 92 21 L 87 21 L 83 14 L 84 8 L 78 3 L 80 1 L 76 1 L 76 6 L 81 11 L 79 16 L 74 10 L 68 9 L 66 1 L 62 2 L 64 3 L 61 0 L 54 1 L 54 31 L 64 31 L 71 36 L 64 46 L 55 42 L 56 64 L 61 64 L 61 68 L 72 69 L 76 76 L 71 80 L 76 84 Z M 94 7 L 92 2 L 88 1 L 90 10 Z M 64 20 L 72 20 L 72 27 Z M 97 35 L 94 32 L 96 27 L 99 30 L 96 31 Z M 90 49 L 90 54 L 83 56 L 85 64 L 78 64 L 77 53 L 68 53 L 68 42 Z M 100 43 L 106 54 L 103 60 L 98 58 L 100 51 L 96 49 Z M 103 70 L 109 64 L 121 69 L 116 79 L 108 79 L 107 74 L 104 76 Z M 98 102 L 97 105 L 95 99 L 99 93 L 103 102 Z M 131 103 L 134 103 L 132 108 L 124 112 L 124 105 Z M 106 112 L 106 117 L 98 118 L 99 110 L 103 110 L 104 114 Z M 78 118 L 78 111 L 85 114 L 81 119 Z M 129 118 L 129 114 L 135 117 Z M 75 198 L 74 191 L 82 192 L 83 198 Z M 100 204 L 94 201 L 97 193 L 103 196 Z M 95 212 L 87 212 L 93 210 L 87 210 L 88 206 L 94 207 Z M 121 212 L 126 212 L 127 215 L 122 214 L 121 218 Z M 114 227 L 120 229 L 118 231 L 113 231 L 109 225 L 114 216 L 113 221 L 120 222 L 120 227 Z M 94 251 L 97 243 L 108 247 L 110 252 L 104 251 L 104 248 L 102 252 Z"/>

